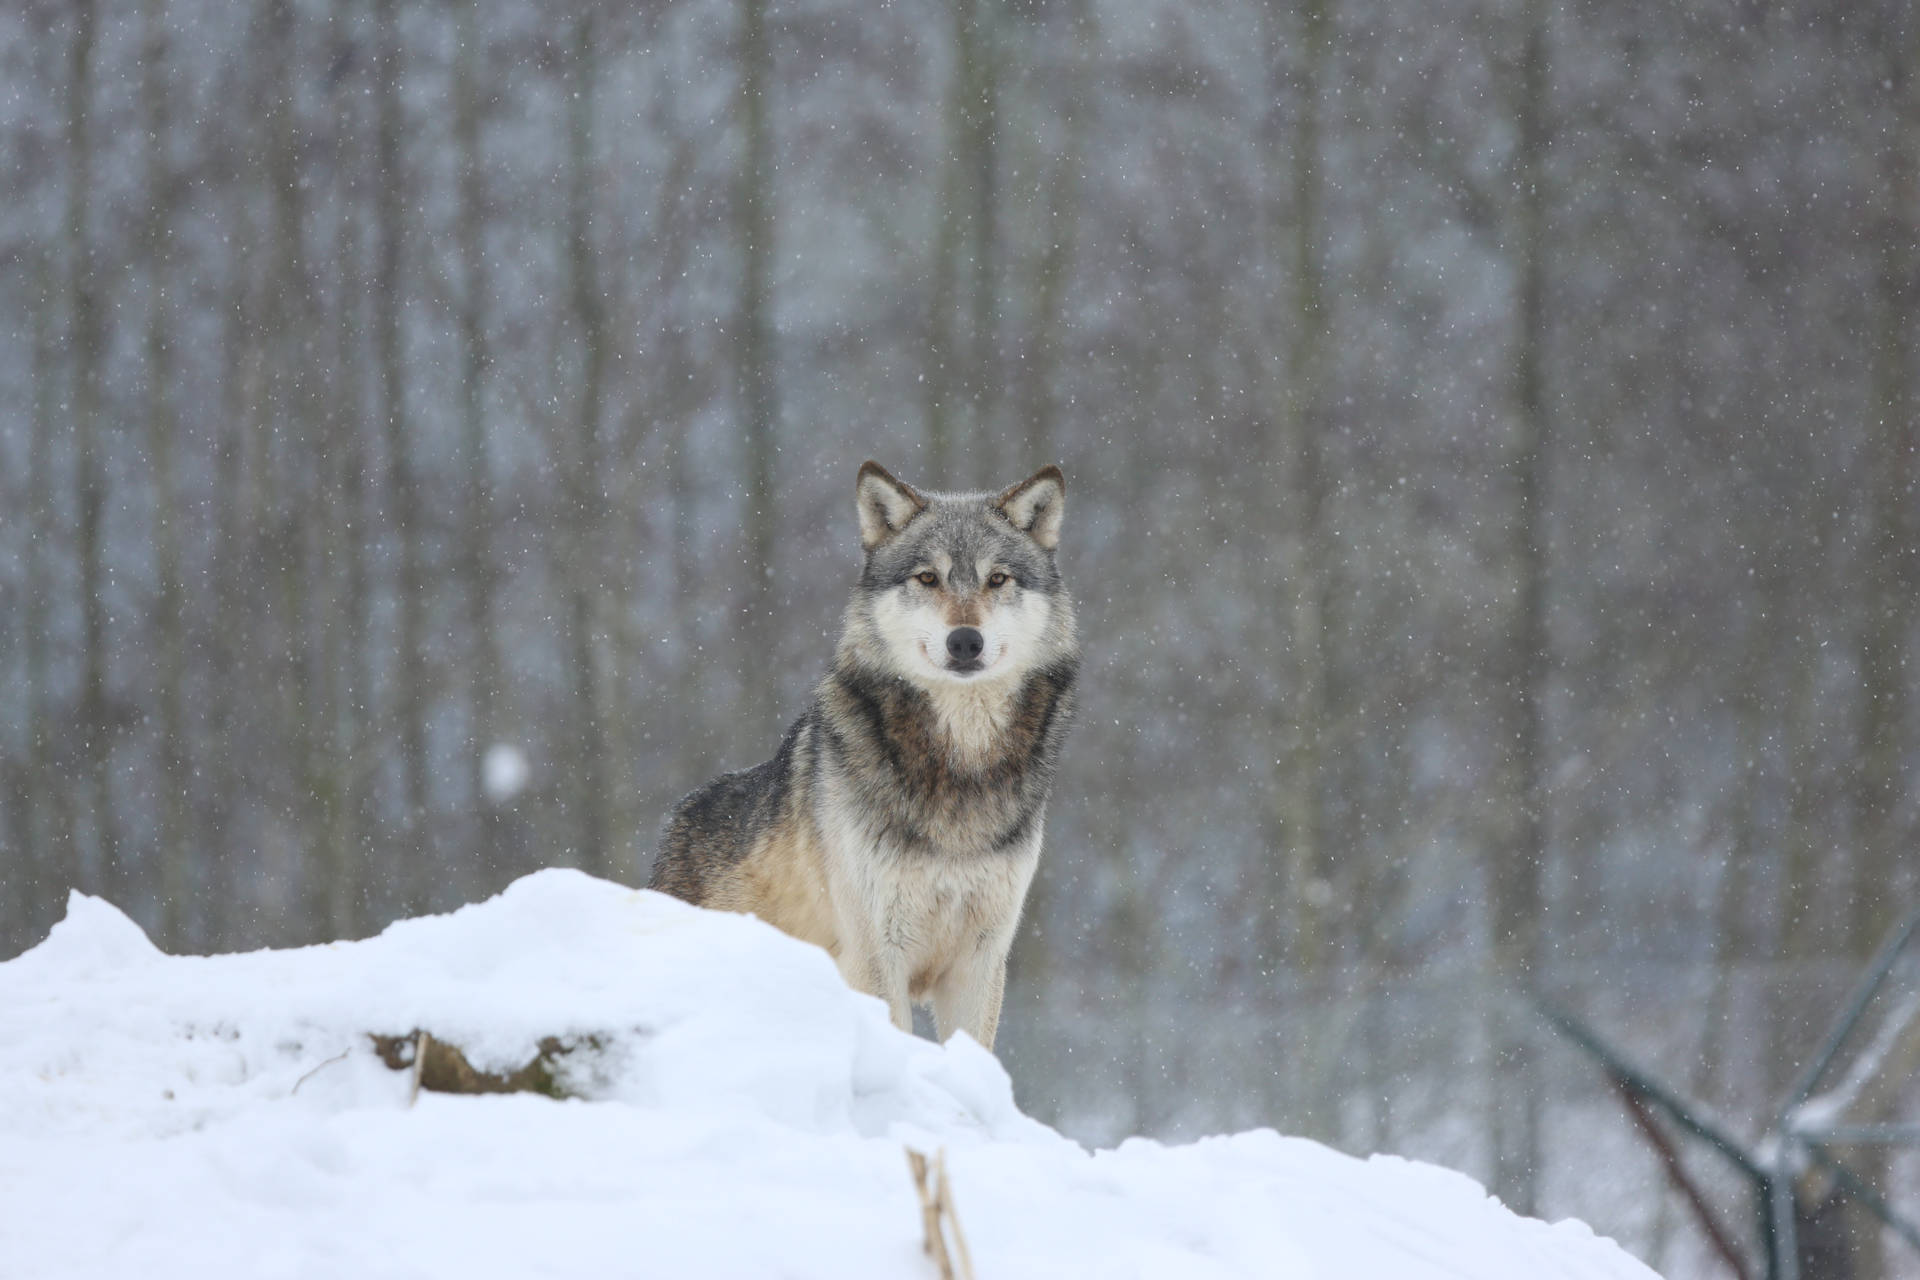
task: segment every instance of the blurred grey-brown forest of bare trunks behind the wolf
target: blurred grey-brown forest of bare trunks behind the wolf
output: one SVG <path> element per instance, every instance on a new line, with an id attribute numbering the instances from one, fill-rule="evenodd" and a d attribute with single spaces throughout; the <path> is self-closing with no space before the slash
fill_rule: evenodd
<path id="1" fill-rule="evenodd" d="M 1920 898 L 1916 71 L 1887 0 L 8 0 L 0 956 L 639 883 L 860 461 L 1058 461 L 1023 1103 L 1726 1274 L 1519 992 L 1751 1134 Z"/>

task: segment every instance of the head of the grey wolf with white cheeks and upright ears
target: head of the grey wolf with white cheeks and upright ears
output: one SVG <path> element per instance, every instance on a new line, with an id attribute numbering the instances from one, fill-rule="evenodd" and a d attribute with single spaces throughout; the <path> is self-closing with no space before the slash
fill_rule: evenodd
<path id="1" fill-rule="evenodd" d="M 879 462 L 854 486 L 866 568 L 843 645 L 918 685 L 1018 679 L 1073 654 L 1054 551 L 1066 478 L 1000 493 L 920 493 Z"/>

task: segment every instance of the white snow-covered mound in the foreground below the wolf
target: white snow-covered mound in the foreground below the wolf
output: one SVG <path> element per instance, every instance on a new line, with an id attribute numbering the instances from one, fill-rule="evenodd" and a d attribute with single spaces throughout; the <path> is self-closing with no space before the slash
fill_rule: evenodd
<path id="1" fill-rule="evenodd" d="M 574 1098 L 409 1105 L 371 1034 L 415 1031 L 482 1071 L 568 1040 Z M 574 871 L 209 958 L 75 894 L 0 963 L 8 1280 L 933 1276 L 908 1146 L 947 1151 L 979 1280 L 1653 1274 L 1432 1165 L 1273 1132 L 1087 1151 L 820 950 Z"/>

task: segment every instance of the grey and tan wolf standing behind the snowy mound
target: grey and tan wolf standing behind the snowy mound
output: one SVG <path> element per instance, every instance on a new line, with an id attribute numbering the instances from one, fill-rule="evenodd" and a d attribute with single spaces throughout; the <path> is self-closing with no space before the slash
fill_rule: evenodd
<path id="1" fill-rule="evenodd" d="M 831 668 L 772 760 L 674 806 L 649 889 L 751 912 L 902 1031 L 931 1004 L 991 1050 L 1079 674 L 1066 478 L 922 493 L 870 461 L 854 510 Z"/>

